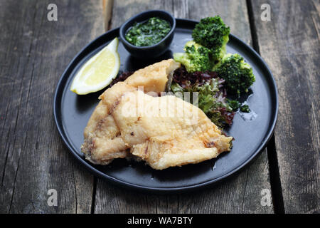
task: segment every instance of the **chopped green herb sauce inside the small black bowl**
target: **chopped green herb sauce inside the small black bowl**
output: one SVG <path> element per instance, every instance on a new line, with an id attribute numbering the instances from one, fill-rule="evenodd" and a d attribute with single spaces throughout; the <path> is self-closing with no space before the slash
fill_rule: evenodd
<path id="1" fill-rule="evenodd" d="M 168 21 L 151 17 L 142 23 L 135 22 L 125 37 L 134 46 L 151 46 L 161 41 L 170 30 Z"/>

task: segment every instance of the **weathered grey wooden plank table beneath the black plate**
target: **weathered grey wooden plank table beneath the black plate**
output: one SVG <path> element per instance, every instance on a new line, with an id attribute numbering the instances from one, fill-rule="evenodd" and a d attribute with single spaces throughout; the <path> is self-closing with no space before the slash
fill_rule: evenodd
<path id="1" fill-rule="evenodd" d="M 48 21 L 48 4 L 58 21 Z M 262 21 L 262 4 L 271 21 Z M 93 177 L 67 150 L 53 93 L 83 46 L 147 9 L 219 14 L 267 61 L 279 91 L 274 137 L 255 162 L 208 190 L 148 195 Z M 0 1 L 1 213 L 319 213 L 319 0 Z M 58 206 L 48 206 L 48 190 Z M 270 191 L 272 204 L 261 203 Z"/>

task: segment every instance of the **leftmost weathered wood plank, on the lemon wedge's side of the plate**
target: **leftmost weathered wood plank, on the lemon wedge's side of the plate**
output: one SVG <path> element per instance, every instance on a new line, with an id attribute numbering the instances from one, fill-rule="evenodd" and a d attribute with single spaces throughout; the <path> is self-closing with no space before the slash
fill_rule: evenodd
<path id="1" fill-rule="evenodd" d="M 90 212 L 93 177 L 53 121 L 53 93 L 78 51 L 104 31 L 100 0 L 0 1 L 0 212 Z M 47 204 L 49 189 L 58 207 Z"/>

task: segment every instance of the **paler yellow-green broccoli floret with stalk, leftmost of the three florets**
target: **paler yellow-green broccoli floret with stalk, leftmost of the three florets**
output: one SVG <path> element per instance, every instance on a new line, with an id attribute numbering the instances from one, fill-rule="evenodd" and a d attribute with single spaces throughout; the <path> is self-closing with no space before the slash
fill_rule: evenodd
<path id="1" fill-rule="evenodd" d="M 194 41 L 188 41 L 185 53 L 174 53 L 174 60 L 182 63 L 188 72 L 210 71 L 213 67 L 210 60 L 211 51 Z"/>

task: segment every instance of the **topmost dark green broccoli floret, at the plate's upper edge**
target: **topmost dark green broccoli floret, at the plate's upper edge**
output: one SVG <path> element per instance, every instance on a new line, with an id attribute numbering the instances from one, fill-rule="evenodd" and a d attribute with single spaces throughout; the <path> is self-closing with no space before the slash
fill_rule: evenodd
<path id="1" fill-rule="evenodd" d="M 229 33 L 230 27 L 225 26 L 220 16 L 207 17 L 201 19 L 193 29 L 192 38 L 196 43 L 209 48 L 212 60 L 217 63 L 226 53 Z"/>

